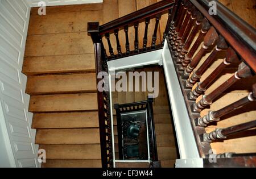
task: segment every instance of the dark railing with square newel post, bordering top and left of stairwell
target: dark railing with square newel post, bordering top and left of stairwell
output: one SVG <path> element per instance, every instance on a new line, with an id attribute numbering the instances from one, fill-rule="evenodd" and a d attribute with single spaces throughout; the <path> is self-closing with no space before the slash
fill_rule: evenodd
<path id="1" fill-rule="evenodd" d="M 151 6 L 145 7 L 144 9 L 135 11 L 134 13 L 123 16 L 122 18 L 113 20 L 112 22 L 103 24 L 100 26 L 98 22 L 88 23 L 88 34 L 91 36 L 94 44 L 94 53 L 96 59 L 96 74 L 105 71 L 108 73 L 107 61 L 115 60 L 121 57 L 127 57 L 131 55 L 138 55 L 149 51 L 154 51 L 163 48 L 163 42 L 156 44 L 159 30 L 159 20 L 162 13 L 168 13 L 168 22 L 166 30 L 164 31 L 163 38 L 165 39 L 170 29 L 171 17 L 174 16 L 174 5 L 176 0 L 164 0 L 155 3 Z M 148 31 L 151 19 L 155 19 L 154 34 L 152 35 L 152 43 L 150 47 L 147 46 L 148 42 Z M 143 36 L 143 48 L 139 48 L 139 25 L 145 24 L 144 36 Z M 130 48 L 129 41 L 129 27 L 134 27 L 135 39 L 134 49 Z M 119 32 L 123 30 L 125 32 L 125 52 L 122 52 L 121 43 L 119 40 Z M 111 36 L 115 37 L 115 41 L 111 41 Z M 102 42 L 102 38 L 105 38 L 108 43 L 108 53 Z M 164 41 L 163 39 L 163 41 Z M 115 43 L 117 46 L 117 54 L 114 54 L 112 44 Z M 97 82 L 102 79 L 97 78 Z M 100 123 L 100 142 L 101 142 L 101 159 L 102 167 L 113 167 L 113 153 L 112 153 L 112 129 L 110 125 L 110 106 L 109 106 L 109 92 L 98 91 L 98 115 Z M 154 155 L 155 156 L 155 155 Z M 156 154 L 157 156 L 157 154 Z"/>

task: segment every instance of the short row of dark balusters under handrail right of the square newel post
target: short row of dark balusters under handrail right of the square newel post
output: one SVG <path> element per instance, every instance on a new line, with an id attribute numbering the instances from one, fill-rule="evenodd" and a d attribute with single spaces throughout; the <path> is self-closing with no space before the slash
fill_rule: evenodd
<path id="1" fill-rule="evenodd" d="M 171 11 L 171 10 L 170 10 Z M 143 45 L 142 45 L 142 49 L 139 49 L 139 22 L 135 22 L 134 24 L 129 24 L 126 25 L 123 28 L 123 31 L 125 32 L 125 52 L 122 52 L 121 49 L 121 44 L 120 44 L 120 40 L 119 40 L 119 31 L 121 28 L 117 28 L 113 31 L 113 35 L 115 36 L 115 41 L 114 43 L 116 43 L 117 46 L 117 54 L 114 54 L 114 49 L 112 47 L 112 42 L 110 40 L 110 32 L 106 32 L 104 35 L 105 36 L 107 42 L 108 42 L 108 48 L 109 48 L 109 56 L 106 53 L 106 49 L 103 46 L 104 49 L 104 55 L 105 55 L 105 59 L 115 59 L 118 57 L 124 57 L 124 56 L 129 56 L 131 53 L 133 54 L 137 54 L 139 52 L 144 52 L 144 51 L 148 51 L 151 49 L 156 49 L 156 40 L 158 38 L 158 30 L 159 30 L 159 21 L 161 18 L 162 14 L 157 14 L 151 17 L 148 17 L 146 19 L 144 19 L 144 24 L 145 24 L 145 28 L 144 28 L 144 36 L 143 36 Z M 147 43 L 148 43 L 148 25 L 151 22 L 151 19 L 155 18 L 155 27 L 154 27 L 154 33 L 152 35 L 152 42 L 151 42 L 151 46 L 147 47 Z M 130 49 L 130 41 L 129 41 L 129 27 L 133 26 L 134 27 L 134 49 Z"/>

